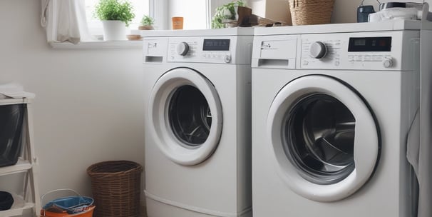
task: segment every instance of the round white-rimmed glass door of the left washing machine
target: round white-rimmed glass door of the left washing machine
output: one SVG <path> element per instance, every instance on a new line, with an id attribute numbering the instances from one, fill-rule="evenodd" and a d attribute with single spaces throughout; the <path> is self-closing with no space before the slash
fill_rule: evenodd
<path id="1" fill-rule="evenodd" d="M 175 163 L 192 166 L 217 148 L 222 106 L 202 74 L 178 68 L 160 76 L 150 94 L 148 121 L 155 145 Z"/>

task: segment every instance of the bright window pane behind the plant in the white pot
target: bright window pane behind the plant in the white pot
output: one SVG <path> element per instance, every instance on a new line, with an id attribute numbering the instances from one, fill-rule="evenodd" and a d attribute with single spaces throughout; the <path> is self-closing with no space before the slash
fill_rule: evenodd
<path id="1" fill-rule="evenodd" d="M 102 36 L 103 29 L 101 21 L 93 14 L 96 4 L 99 0 L 86 0 L 86 17 L 90 34 L 93 36 Z M 150 14 L 150 0 L 128 0 L 133 5 L 135 19 L 129 25 L 129 29 L 138 29 L 143 15 Z"/>

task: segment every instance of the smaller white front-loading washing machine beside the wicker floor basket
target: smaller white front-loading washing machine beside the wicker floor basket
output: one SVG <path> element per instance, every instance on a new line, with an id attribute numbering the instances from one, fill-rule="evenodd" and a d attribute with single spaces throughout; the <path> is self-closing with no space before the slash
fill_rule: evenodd
<path id="1" fill-rule="evenodd" d="M 143 36 L 148 216 L 252 216 L 253 29 Z"/>

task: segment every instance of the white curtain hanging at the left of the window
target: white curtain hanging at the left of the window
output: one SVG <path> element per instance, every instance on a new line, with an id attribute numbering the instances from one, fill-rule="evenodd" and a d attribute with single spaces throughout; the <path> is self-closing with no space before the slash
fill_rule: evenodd
<path id="1" fill-rule="evenodd" d="M 88 32 L 85 0 L 41 0 L 41 25 L 51 42 L 95 41 Z"/>

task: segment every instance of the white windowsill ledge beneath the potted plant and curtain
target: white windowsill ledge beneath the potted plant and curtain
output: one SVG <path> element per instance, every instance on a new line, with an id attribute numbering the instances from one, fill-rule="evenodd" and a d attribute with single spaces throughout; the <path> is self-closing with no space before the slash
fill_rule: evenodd
<path id="1" fill-rule="evenodd" d="M 54 49 L 141 49 L 143 41 L 83 41 L 78 44 L 51 41 Z"/>

